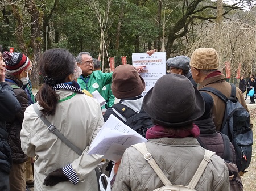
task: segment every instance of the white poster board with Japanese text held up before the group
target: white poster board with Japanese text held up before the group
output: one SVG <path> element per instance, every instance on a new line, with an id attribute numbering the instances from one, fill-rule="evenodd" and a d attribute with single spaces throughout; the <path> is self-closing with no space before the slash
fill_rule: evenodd
<path id="1" fill-rule="evenodd" d="M 133 66 L 146 66 L 144 73 L 140 73 L 144 80 L 159 79 L 166 75 L 166 52 L 155 52 L 151 56 L 147 53 L 133 53 Z"/>

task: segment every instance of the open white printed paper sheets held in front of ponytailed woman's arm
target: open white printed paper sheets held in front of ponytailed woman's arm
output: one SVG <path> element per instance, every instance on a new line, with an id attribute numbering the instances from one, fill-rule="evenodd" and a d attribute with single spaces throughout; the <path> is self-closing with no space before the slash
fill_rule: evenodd
<path id="1" fill-rule="evenodd" d="M 116 162 L 122 158 L 126 148 L 146 141 L 147 139 L 112 114 L 90 145 L 88 154 L 104 155 L 103 158 Z"/>

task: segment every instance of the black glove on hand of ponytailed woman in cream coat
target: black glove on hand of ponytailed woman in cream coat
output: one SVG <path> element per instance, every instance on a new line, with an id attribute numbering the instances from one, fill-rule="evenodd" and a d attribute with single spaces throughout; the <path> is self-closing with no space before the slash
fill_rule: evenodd
<path id="1" fill-rule="evenodd" d="M 44 185 L 46 186 L 54 186 L 58 184 L 59 182 L 67 181 L 68 178 L 63 173 L 62 169 L 56 169 L 56 171 L 53 171 L 49 173 L 49 175 L 44 179 Z"/>

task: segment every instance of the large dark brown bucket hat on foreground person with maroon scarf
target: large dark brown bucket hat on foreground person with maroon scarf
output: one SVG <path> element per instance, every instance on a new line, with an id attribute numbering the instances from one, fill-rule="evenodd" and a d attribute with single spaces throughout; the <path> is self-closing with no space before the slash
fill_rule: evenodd
<path id="1" fill-rule="evenodd" d="M 203 96 L 187 77 L 166 74 L 144 96 L 143 108 L 152 120 L 179 127 L 201 117 L 205 104 Z"/>

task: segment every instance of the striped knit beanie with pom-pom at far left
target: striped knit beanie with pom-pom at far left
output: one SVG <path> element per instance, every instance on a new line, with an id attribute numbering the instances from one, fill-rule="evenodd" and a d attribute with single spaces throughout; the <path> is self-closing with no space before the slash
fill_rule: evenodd
<path id="1" fill-rule="evenodd" d="M 3 52 L 3 59 L 5 60 L 6 71 L 13 75 L 20 74 L 30 66 L 30 60 L 22 53 L 5 51 Z"/>

